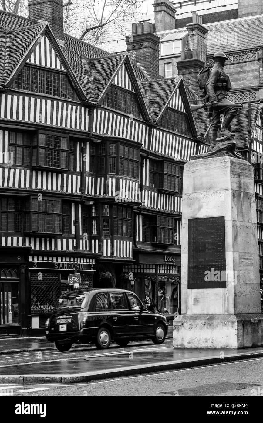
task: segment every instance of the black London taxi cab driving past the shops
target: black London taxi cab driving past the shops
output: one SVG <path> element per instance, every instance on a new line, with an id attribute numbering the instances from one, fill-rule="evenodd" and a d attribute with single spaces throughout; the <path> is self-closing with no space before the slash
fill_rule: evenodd
<path id="1" fill-rule="evenodd" d="M 129 341 L 151 339 L 164 342 L 168 330 L 166 317 L 151 313 L 132 291 L 124 289 L 86 289 L 61 295 L 54 314 L 46 321 L 46 338 L 59 351 L 72 343 L 94 343 L 108 348 Z"/>

